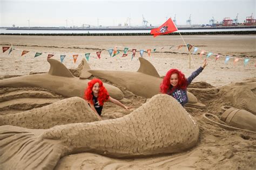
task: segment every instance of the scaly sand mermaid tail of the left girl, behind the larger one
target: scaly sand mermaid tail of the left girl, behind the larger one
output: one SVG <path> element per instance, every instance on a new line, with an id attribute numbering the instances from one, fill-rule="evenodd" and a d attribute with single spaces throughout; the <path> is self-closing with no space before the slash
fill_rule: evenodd
<path id="1" fill-rule="evenodd" d="M 17 114 L 0 116 L 0 125 L 13 125 L 29 129 L 49 129 L 56 125 L 95 122 L 101 118 L 80 97 L 64 100 Z"/>

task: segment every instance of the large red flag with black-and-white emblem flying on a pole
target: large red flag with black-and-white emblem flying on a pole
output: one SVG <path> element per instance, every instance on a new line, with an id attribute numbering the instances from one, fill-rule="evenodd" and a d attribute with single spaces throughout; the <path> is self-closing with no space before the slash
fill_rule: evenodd
<path id="1" fill-rule="evenodd" d="M 159 35 L 169 34 L 171 32 L 177 31 L 176 25 L 173 23 L 172 19 L 169 18 L 163 25 L 159 26 L 157 29 L 152 29 L 150 34 L 153 34 L 154 37 Z"/>

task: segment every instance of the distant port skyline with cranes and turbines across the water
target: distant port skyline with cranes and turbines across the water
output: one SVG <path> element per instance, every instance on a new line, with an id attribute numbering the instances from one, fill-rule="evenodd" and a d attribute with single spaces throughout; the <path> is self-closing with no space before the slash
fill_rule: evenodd
<path id="1" fill-rule="evenodd" d="M 186 20 L 186 25 L 177 25 L 179 30 L 197 30 L 197 29 L 241 29 L 245 27 L 256 28 L 256 19 L 253 18 L 253 13 L 251 16 L 246 17 L 242 23 L 238 21 L 238 13 L 234 19 L 230 17 L 224 18 L 221 22 L 212 17 L 207 24 L 201 25 L 193 25 L 191 15 Z M 168 17 L 166 17 L 166 20 Z M 176 15 L 172 19 L 173 22 L 176 24 Z M 68 20 L 66 20 L 66 26 L 59 26 L 59 27 L 30 27 L 30 20 L 28 20 L 28 27 L 18 27 L 15 24 L 12 27 L 4 27 L 6 30 L 151 30 L 156 28 L 160 25 L 153 26 L 149 24 L 144 16 L 142 15 L 142 25 L 141 26 L 131 26 L 131 18 L 127 18 L 124 24 L 118 24 L 117 26 L 102 26 L 99 25 L 90 25 L 90 24 L 82 24 L 81 26 L 68 26 Z"/>

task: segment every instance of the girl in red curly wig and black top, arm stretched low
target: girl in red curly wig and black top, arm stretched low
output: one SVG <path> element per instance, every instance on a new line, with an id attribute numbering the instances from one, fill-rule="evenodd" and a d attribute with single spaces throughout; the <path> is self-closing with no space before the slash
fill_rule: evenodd
<path id="1" fill-rule="evenodd" d="M 99 79 L 92 79 L 88 82 L 88 86 L 84 91 L 84 99 L 99 116 L 102 114 L 104 102 L 112 102 L 126 110 L 131 108 L 110 97 L 102 81 Z"/>

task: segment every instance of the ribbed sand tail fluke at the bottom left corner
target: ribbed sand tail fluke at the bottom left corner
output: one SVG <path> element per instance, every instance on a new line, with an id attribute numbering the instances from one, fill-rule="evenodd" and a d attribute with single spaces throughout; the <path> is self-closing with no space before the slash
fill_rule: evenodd
<path id="1" fill-rule="evenodd" d="M 43 131 L 2 126 L 0 169 L 53 169 L 66 148 L 58 140 L 39 138 Z"/>

